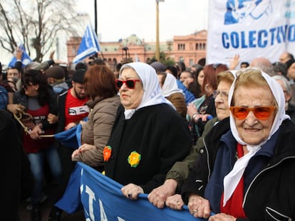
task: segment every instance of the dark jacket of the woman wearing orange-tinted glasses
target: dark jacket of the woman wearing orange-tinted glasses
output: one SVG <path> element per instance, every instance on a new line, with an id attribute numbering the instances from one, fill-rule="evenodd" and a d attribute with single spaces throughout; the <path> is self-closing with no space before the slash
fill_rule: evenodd
<path id="1" fill-rule="evenodd" d="M 182 187 L 182 199 L 185 203 L 188 203 L 190 193 L 197 193 L 210 198 L 208 200 L 212 206 L 212 212 L 215 213 L 219 212 L 223 191 L 223 183 L 220 184 L 220 180 L 219 182 L 211 180 L 212 177 L 215 179 L 219 177 L 214 175 L 214 170 L 219 169 L 219 166 L 214 167 L 218 164 L 217 155 L 220 156 L 220 153 L 224 151 L 222 149 L 227 148 L 228 145 L 228 149 L 231 149 L 230 146 L 237 146 L 237 141 L 232 141 L 231 132 L 224 134 L 224 130 L 226 131 L 226 126 L 219 122 L 210 131 L 211 137 L 209 134 L 205 137 L 205 149 L 201 152 L 203 154 L 200 155 L 200 160 L 197 161 L 196 168 L 190 174 L 187 183 Z M 243 201 L 244 212 L 249 220 L 275 220 L 273 217 L 276 217 L 276 220 L 295 218 L 294 133 L 295 125 L 290 120 L 285 120 L 279 131 L 276 131 L 249 161 L 244 171 Z M 224 155 L 224 157 L 227 156 Z M 227 172 L 221 171 L 221 173 Z M 214 188 L 211 182 L 214 183 Z M 210 190 L 208 190 L 210 185 L 211 188 L 209 187 Z"/>

